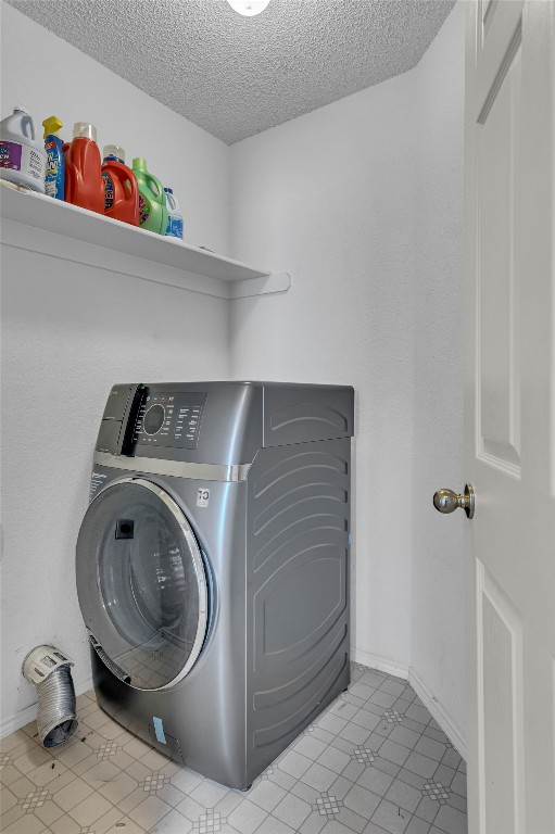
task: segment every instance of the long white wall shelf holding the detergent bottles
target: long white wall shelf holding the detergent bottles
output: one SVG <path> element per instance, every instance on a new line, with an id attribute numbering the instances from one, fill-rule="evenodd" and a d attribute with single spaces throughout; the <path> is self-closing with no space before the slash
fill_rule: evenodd
<path id="1" fill-rule="evenodd" d="M 43 194 L 1 188 L 0 198 L 1 241 L 10 247 L 220 299 L 291 286 L 287 273 L 256 269 Z"/>

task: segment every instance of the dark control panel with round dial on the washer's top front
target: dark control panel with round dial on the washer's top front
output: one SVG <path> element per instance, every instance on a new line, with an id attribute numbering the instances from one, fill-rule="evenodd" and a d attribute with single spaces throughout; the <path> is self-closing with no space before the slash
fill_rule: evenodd
<path id="1" fill-rule="evenodd" d="M 197 448 L 205 403 L 202 392 L 146 393 L 135 422 L 134 443 Z"/>

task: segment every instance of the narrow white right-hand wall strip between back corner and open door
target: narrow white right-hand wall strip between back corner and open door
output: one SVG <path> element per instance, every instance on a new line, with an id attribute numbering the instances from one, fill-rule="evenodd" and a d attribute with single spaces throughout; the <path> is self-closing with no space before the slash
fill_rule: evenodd
<path id="1" fill-rule="evenodd" d="M 466 735 L 463 511 L 431 506 L 464 478 L 464 3 L 418 64 L 419 160 L 413 295 L 413 615 L 411 666 L 459 737 Z"/>

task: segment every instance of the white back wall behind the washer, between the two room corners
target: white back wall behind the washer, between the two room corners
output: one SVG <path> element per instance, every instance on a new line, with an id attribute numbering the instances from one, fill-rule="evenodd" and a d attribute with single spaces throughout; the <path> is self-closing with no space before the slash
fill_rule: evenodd
<path id="1" fill-rule="evenodd" d="M 287 294 L 234 302 L 232 372 L 354 386 L 354 645 L 405 670 L 416 80 L 393 78 L 231 148 L 234 242 L 293 276 Z"/>

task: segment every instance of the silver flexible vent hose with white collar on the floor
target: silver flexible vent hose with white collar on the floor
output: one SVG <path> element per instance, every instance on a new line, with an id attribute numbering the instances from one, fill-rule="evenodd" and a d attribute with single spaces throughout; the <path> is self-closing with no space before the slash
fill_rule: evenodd
<path id="1" fill-rule="evenodd" d="M 43 747 L 58 747 L 77 730 L 74 664 L 54 646 L 37 646 L 23 661 L 23 674 L 37 687 L 37 728 Z"/>

